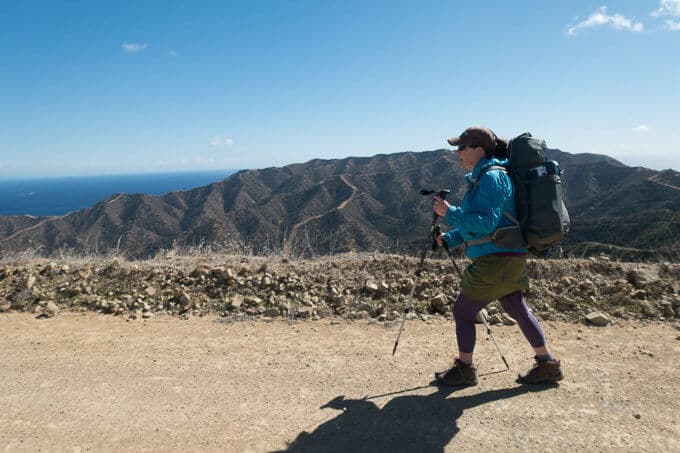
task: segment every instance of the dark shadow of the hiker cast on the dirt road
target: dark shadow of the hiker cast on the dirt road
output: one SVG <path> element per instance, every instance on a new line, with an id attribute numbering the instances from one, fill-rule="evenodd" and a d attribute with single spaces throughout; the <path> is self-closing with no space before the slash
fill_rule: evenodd
<path id="1" fill-rule="evenodd" d="M 313 432 L 303 431 L 284 451 L 441 452 L 458 433 L 466 409 L 552 387 L 519 386 L 448 398 L 455 390 L 439 387 L 429 395 L 399 396 L 379 409 L 368 399 L 338 396 L 321 408 L 342 412 Z"/>

